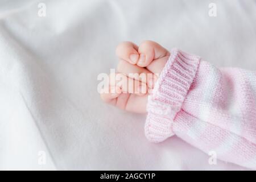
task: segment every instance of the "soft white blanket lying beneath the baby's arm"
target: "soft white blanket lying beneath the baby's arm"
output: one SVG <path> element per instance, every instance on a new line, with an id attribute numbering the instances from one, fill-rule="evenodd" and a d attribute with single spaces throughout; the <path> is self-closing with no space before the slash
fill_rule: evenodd
<path id="1" fill-rule="evenodd" d="M 245 169 L 176 137 L 149 143 L 146 116 L 102 103 L 97 75 L 115 68 L 119 42 L 147 39 L 255 70 L 255 10 L 253 0 L 0 1 L 0 169 Z"/>

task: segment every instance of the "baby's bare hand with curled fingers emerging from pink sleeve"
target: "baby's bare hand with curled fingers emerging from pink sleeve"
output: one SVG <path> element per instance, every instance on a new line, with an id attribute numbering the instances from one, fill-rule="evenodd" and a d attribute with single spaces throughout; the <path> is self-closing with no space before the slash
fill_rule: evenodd
<path id="1" fill-rule="evenodd" d="M 117 73 L 109 76 L 108 88 L 104 89 L 108 92 L 101 93 L 102 100 L 120 109 L 146 113 L 148 94 L 154 88 L 157 75 L 164 68 L 170 52 L 147 40 L 140 46 L 122 42 L 117 46 L 116 54 L 119 59 Z"/>

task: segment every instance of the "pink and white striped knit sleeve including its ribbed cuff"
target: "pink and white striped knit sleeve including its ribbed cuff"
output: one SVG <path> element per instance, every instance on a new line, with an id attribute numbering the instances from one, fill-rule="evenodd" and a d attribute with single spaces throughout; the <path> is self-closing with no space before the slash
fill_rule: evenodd
<path id="1" fill-rule="evenodd" d="M 151 142 L 177 135 L 218 159 L 256 169 L 256 72 L 218 69 L 172 49 L 147 111 Z"/>

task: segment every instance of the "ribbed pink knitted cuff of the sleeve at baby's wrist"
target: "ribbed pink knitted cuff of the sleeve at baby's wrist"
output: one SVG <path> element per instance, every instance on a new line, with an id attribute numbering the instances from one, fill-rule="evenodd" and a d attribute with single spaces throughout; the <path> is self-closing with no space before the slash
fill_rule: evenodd
<path id="1" fill-rule="evenodd" d="M 151 142 L 174 135 L 172 123 L 196 75 L 200 57 L 172 49 L 147 103 L 145 134 Z"/>

